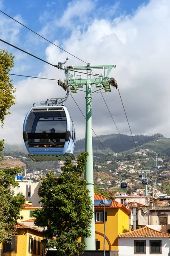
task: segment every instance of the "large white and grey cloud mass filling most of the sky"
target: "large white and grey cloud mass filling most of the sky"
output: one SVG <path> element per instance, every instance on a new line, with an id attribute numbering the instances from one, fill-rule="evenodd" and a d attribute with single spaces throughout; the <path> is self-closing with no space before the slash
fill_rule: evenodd
<path id="1" fill-rule="evenodd" d="M 83 1 L 75 2 L 74 8 Z M 71 9 L 65 11 L 63 18 L 73 18 Z M 74 9 L 75 10 L 75 9 Z M 87 11 L 87 12 L 86 12 Z M 88 10 L 85 9 L 85 15 Z M 170 1 L 152 0 L 140 7 L 131 16 L 121 16 L 114 20 L 96 18 L 84 31 L 74 29 L 63 41 L 62 47 L 91 65 L 116 64 L 113 76 L 119 90 L 133 134 L 154 134 L 160 132 L 170 137 Z M 52 29 L 55 29 L 53 27 Z M 55 41 L 56 44 L 59 42 Z M 84 65 L 68 56 L 54 45 L 46 48 L 46 59 L 57 64 L 69 57 L 68 65 Z M 64 79 L 64 72 L 45 65 L 39 76 Z M 65 91 L 57 82 L 36 79 L 23 79 L 14 84 L 17 87 L 17 105 L 12 115 L 6 117 L 1 136 L 11 142 L 22 141 L 24 116 L 32 104 L 47 97 L 60 97 Z M 120 133 L 130 134 L 119 93 L 111 88 L 104 93 L 108 108 Z M 85 113 L 85 94 L 72 94 Z M 69 97 L 65 105 L 75 122 L 77 138 L 85 136 L 85 120 L 79 109 Z M 118 133 L 100 93 L 92 99 L 93 128 L 97 135 Z M 11 125 L 12 124 L 12 125 Z M 20 130 L 20 131 L 19 131 Z"/>

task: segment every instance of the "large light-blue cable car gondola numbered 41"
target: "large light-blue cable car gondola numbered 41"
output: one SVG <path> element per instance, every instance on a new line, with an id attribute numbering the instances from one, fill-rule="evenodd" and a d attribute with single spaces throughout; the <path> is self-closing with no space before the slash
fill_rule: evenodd
<path id="1" fill-rule="evenodd" d="M 33 105 L 24 120 L 23 139 L 28 156 L 34 161 L 74 160 L 76 134 L 64 104 Z"/>

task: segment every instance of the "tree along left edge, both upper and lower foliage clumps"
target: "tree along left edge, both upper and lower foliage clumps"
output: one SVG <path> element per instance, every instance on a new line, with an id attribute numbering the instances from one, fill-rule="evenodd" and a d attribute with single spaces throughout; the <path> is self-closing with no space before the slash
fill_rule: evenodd
<path id="1" fill-rule="evenodd" d="M 11 84 L 11 79 L 6 73 L 10 72 L 14 66 L 14 56 L 4 49 L 0 50 L 0 123 L 1 127 L 8 113 L 8 109 L 14 105 L 15 89 Z M 5 73 L 5 74 L 4 74 Z M 3 159 L 4 140 L 0 140 L 0 161 Z M 17 186 L 14 175 L 21 172 L 20 167 L 2 169 L 0 163 L 0 243 L 8 241 L 14 236 L 19 218 L 20 210 L 23 209 L 25 197 L 18 193 L 14 195 L 13 188 Z"/>

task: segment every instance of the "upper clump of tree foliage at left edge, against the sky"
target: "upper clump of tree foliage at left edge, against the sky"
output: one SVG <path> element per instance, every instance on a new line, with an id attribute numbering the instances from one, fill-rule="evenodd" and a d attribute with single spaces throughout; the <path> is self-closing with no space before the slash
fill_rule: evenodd
<path id="1" fill-rule="evenodd" d="M 9 108 L 15 104 L 14 93 L 16 89 L 12 85 L 9 73 L 14 67 L 14 56 L 5 49 L 0 50 L 0 122 L 3 125 L 5 116 L 9 114 Z"/>

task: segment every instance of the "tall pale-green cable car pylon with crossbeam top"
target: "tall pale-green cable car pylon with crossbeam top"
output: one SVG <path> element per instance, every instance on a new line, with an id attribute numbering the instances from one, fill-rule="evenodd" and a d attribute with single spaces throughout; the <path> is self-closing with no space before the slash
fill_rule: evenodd
<path id="1" fill-rule="evenodd" d="M 71 93 L 82 92 L 83 85 L 85 85 L 85 101 L 86 101 L 86 128 L 85 128 L 85 152 L 88 152 L 87 164 L 85 166 L 84 178 L 88 181 L 86 187 L 89 189 L 89 195 L 91 196 L 91 203 L 94 207 L 94 177 L 93 177 L 93 148 L 92 148 L 92 93 L 96 92 L 111 92 L 111 86 L 117 88 L 116 80 L 108 78 L 112 68 L 116 68 L 116 65 L 102 65 L 102 66 L 78 66 L 78 67 L 62 67 L 65 70 L 65 83 L 71 90 Z M 102 70 L 94 76 L 96 70 Z M 107 70 L 107 73 L 106 73 Z M 79 72 L 76 73 L 75 71 Z M 86 78 L 82 78 L 82 73 L 85 73 Z M 92 73 L 93 72 L 93 73 Z M 92 92 L 92 85 L 97 90 Z M 85 250 L 96 250 L 95 242 L 95 219 L 93 213 L 93 219 L 91 222 L 91 237 L 83 238 L 86 244 Z"/>

